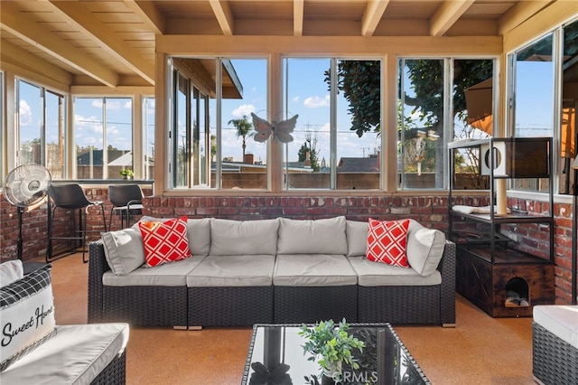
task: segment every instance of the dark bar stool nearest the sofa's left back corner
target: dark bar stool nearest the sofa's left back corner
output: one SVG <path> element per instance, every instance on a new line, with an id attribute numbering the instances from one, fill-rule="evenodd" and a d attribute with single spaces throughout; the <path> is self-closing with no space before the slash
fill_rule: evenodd
<path id="1" fill-rule="evenodd" d="M 143 214 L 143 190 L 138 184 L 111 184 L 108 186 L 108 200 L 112 203 L 108 229 L 112 230 L 112 216 L 120 215 L 120 228 L 130 227 L 131 215 Z"/>

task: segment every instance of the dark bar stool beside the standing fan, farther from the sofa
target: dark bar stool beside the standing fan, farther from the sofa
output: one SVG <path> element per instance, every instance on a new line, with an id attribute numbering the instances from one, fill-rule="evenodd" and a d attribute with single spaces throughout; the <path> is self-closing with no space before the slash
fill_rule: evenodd
<path id="1" fill-rule="evenodd" d="M 82 247 L 82 261 L 87 263 L 89 260 L 85 258 L 86 255 L 86 240 L 87 240 L 87 217 L 89 214 L 89 207 L 99 206 L 102 213 L 102 223 L 104 230 L 107 231 L 107 219 L 105 217 L 104 202 L 91 202 L 85 195 L 82 187 L 78 183 L 70 184 L 51 184 L 48 186 L 48 196 L 50 197 L 48 214 L 48 249 L 46 250 L 46 262 L 51 262 L 52 258 L 52 239 L 69 239 L 74 241 L 74 246 L 70 250 L 70 254 L 76 252 L 76 249 Z M 73 235 L 70 237 L 53 237 L 52 224 L 54 221 L 54 212 L 56 209 L 79 211 L 79 229 L 76 229 L 76 219 L 72 215 L 74 229 Z M 84 211 L 84 216 L 82 215 Z M 79 241 L 79 244 L 77 243 Z M 65 257 L 65 256 L 61 256 Z"/>

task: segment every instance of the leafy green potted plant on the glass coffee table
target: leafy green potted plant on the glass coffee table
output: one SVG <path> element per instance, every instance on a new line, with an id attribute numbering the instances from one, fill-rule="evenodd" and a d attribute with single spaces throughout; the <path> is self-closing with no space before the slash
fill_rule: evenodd
<path id="1" fill-rule="evenodd" d="M 333 320 L 321 321 L 312 327 L 303 324 L 299 335 L 302 335 L 306 342 L 303 345 L 303 354 L 311 353 L 307 360 L 319 363 L 323 370 L 323 375 L 335 381 L 341 378 L 343 362 L 350 365 L 351 369 L 359 369 L 359 363 L 353 357 L 353 351 L 363 352 L 365 343 L 350 335 L 347 331 L 350 324 L 345 318 L 335 325 Z"/>

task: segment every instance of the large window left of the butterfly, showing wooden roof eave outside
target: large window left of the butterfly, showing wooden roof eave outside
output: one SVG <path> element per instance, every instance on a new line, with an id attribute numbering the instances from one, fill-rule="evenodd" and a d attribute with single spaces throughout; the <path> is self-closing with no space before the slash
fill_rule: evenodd
<path id="1" fill-rule="evenodd" d="M 172 187 L 266 189 L 266 60 L 173 58 Z"/>

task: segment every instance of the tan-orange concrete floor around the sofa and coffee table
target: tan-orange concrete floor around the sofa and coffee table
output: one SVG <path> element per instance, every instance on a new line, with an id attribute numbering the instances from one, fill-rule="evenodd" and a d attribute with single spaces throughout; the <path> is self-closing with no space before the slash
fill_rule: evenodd
<path id="1" fill-rule="evenodd" d="M 86 324 L 89 266 L 80 254 L 52 266 L 57 324 Z M 459 295 L 456 312 L 455 328 L 394 325 L 434 385 L 535 383 L 531 318 L 491 318 Z M 238 384 L 250 336 L 249 327 L 188 332 L 133 327 L 126 383 Z"/>

